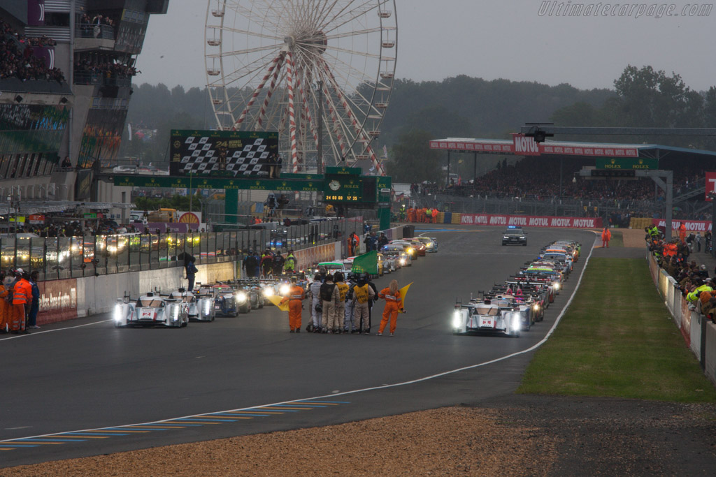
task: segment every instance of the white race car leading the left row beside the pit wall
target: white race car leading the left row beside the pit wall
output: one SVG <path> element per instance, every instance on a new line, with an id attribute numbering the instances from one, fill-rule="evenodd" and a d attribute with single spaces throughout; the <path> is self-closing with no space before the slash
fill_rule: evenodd
<path id="1" fill-rule="evenodd" d="M 162 297 L 147 292 L 137 300 L 125 296 L 117 300 L 114 312 L 115 327 L 170 326 L 181 328 L 189 324 L 189 305 L 183 300 Z"/>

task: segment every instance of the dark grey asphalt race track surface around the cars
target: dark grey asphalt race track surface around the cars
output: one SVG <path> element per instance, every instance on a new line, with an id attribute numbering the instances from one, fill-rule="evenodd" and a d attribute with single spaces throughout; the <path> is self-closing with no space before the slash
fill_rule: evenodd
<path id="1" fill-rule="evenodd" d="M 2 335 L 0 449 L 12 450 L 0 450 L 0 467 L 485 403 L 513 393 L 532 352 L 424 378 L 520 353 L 542 340 L 596 235 L 529 229 L 526 247 L 503 247 L 502 232 L 417 227 L 416 235 L 437 237 L 440 251 L 376 280 L 379 288 L 392 278 L 400 286 L 414 282 L 408 313 L 399 315 L 392 338 L 291 334 L 287 316 L 273 307 L 183 329 L 115 329 L 109 315 L 97 315 L 31 335 Z M 559 238 L 581 241 L 582 260 L 543 322 L 520 338 L 450 333 L 456 299 L 489 290 Z M 383 303 L 377 307 L 373 332 Z M 266 407 L 275 403 L 281 404 Z M 230 410 L 239 411 L 222 412 Z M 177 421 L 185 416 L 193 417 Z M 172 421 L 157 423 L 163 420 Z M 103 431 L 78 432 L 98 428 Z M 18 438 L 27 439 L 7 442 Z"/>

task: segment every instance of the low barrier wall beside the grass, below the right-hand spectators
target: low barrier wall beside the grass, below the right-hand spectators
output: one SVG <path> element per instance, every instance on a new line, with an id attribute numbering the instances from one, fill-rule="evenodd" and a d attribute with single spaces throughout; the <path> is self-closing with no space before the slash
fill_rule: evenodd
<path id="1" fill-rule="evenodd" d="M 674 324 L 681 331 L 684 343 L 696 355 L 704 373 L 716 385 L 716 325 L 702 315 L 698 308 L 689 309 L 689 303 L 682 296 L 679 284 L 659 267 L 648 249 L 647 262 L 652 280 L 657 285 L 659 295 L 664 298 L 664 305 L 667 305 Z"/>

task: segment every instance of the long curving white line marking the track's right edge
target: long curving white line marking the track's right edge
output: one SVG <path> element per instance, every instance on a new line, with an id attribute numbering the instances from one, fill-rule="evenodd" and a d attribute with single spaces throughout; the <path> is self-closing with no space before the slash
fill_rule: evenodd
<path id="1" fill-rule="evenodd" d="M 368 391 L 373 391 L 373 390 L 381 390 L 381 389 L 389 389 L 389 388 L 398 388 L 398 387 L 400 387 L 400 386 L 406 386 L 406 385 L 415 384 L 415 383 L 422 383 L 423 381 L 427 381 L 427 380 L 431 380 L 431 379 L 435 379 L 435 378 L 440 378 L 440 377 L 445 376 L 445 375 L 460 373 L 460 371 L 465 371 L 465 370 L 470 370 L 470 369 L 475 369 L 475 368 L 481 368 L 481 367 L 483 367 L 483 366 L 491 365 L 491 364 L 493 364 L 493 363 L 499 363 L 500 361 L 504 361 L 504 360 L 508 360 L 508 359 L 510 359 L 510 358 L 514 358 L 515 356 L 523 355 L 523 354 L 525 354 L 525 353 L 530 353 L 531 351 L 536 350 L 536 349 L 539 348 L 541 345 L 543 345 L 544 343 L 547 342 L 548 338 L 552 335 L 552 333 L 554 333 L 554 330 L 557 328 L 557 325 L 558 325 L 559 322 L 562 320 L 562 317 L 564 316 L 564 313 L 566 313 L 566 311 L 569 309 L 569 305 L 571 305 L 572 300 L 574 300 L 574 295 L 576 295 L 577 290 L 579 290 L 579 285 L 581 285 L 582 277 L 584 277 L 584 271 L 586 270 L 586 266 L 589 264 L 589 259 L 591 259 L 591 254 L 592 254 L 592 252 L 594 251 L 594 245 L 595 245 L 595 244 L 596 244 L 596 237 L 595 237 L 595 239 L 594 239 L 594 244 L 592 244 L 592 247 L 591 247 L 591 249 L 589 250 L 589 256 L 586 257 L 586 260 L 584 261 L 584 267 L 582 267 L 582 271 L 581 271 L 581 273 L 579 274 L 579 280 L 577 281 L 576 287 L 574 287 L 574 291 L 572 292 L 571 296 L 569 297 L 569 300 L 567 300 L 567 303 L 564 305 L 564 308 L 562 308 L 561 313 L 559 313 L 559 315 L 557 316 L 557 319 L 554 320 L 554 324 L 552 325 L 552 328 L 550 328 L 550 330 L 548 331 L 548 333 L 545 335 L 544 338 L 542 338 L 542 340 L 541 340 L 540 342 L 536 343 L 535 345 L 531 346 L 530 348 L 527 348 L 526 350 L 518 351 L 517 353 L 512 353 L 512 354 L 510 354 L 510 355 L 505 355 L 505 356 L 502 356 L 501 358 L 495 358 L 495 359 L 493 359 L 493 360 L 485 361 L 484 363 L 479 363 L 479 364 L 476 364 L 476 365 L 465 366 L 464 368 L 458 368 L 458 369 L 454 369 L 454 370 L 449 370 L 449 371 L 445 371 L 445 372 L 443 372 L 443 373 L 437 373 L 437 374 L 434 374 L 434 375 L 425 376 L 425 378 L 419 378 L 419 379 L 414 379 L 414 380 L 410 380 L 410 381 L 404 381 L 404 382 L 402 382 L 402 383 L 384 384 L 384 385 L 374 386 L 374 387 L 372 387 L 372 388 L 355 389 L 355 390 L 350 390 L 350 391 L 344 391 L 344 392 L 342 392 L 342 393 L 331 393 L 331 394 L 326 394 L 326 395 L 314 396 L 314 397 L 312 397 L 312 398 L 301 398 L 301 399 L 294 399 L 294 400 L 289 400 L 289 401 L 281 401 L 281 402 L 279 402 L 279 403 L 253 405 L 253 406 L 248 407 L 248 408 L 230 409 L 230 410 L 223 410 L 223 411 L 218 411 L 218 412 L 220 412 L 220 413 L 227 413 L 227 412 L 231 412 L 231 411 L 255 409 L 255 408 L 257 408 L 257 407 L 265 407 L 265 406 L 269 406 L 269 405 L 281 405 L 281 404 L 295 403 L 296 401 L 301 401 L 301 400 L 314 400 L 314 399 L 323 399 L 323 398 L 335 398 L 336 396 L 340 396 L 340 395 L 366 393 L 366 392 L 368 392 Z M 105 320 L 105 321 L 110 321 L 110 320 Z M 97 322 L 97 323 L 104 323 L 104 322 Z M 89 324 L 90 324 L 90 325 L 94 325 L 95 323 L 89 323 Z M 82 325 L 82 326 L 87 326 L 87 325 Z M 79 328 L 79 327 L 75 327 L 75 328 Z M 63 329 L 69 329 L 69 328 L 63 328 Z M 127 427 L 127 426 L 146 426 L 146 425 L 149 425 L 149 424 L 155 424 L 155 425 L 157 425 L 157 424 L 161 424 L 161 423 L 163 423 L 163 422 L 176 421 L 177 419 L 194 418 L 194 417 L 197 416 L 197 415 L 204 415 L 204 414 L 205 414 L 205 413 L 203 413 L 203 414 L 194 414 L 194 415 L 185 415 L 185 416 L 180 417 L 180 418 L 164 419 L 163 421 L 150 421 L 150 422 L 145 422 L 145 423 L 124 424 L 124 425 L 122 425 L 122 426 L 110 426 L 110 427 L 107 427 L 107 428 L 112 428 L 112 429 L 114 429 L 114 428 L 117 428 L 117 427 Z M 82 431 L 64 431 L 64 432 L 62 432 L 62 433 L 102 431 L 102 429 L 107 429 L 107 428 L 82 429 Z M 23 439 L 41 438 L 41 437 L 48 437 L 48 436 L 57 436 L 58 434 L 62 434 L 62 433 L 41 434 L 41 435 L 39 435 L 39 436 L 24 437 Z M 9 441 L 16 441 L 17 439 L 19 439 L 19 438 L 6 439 L 6 440 L 4 440 L 4 441 L 0 441 L 0 443 L 9 442 Z"/>

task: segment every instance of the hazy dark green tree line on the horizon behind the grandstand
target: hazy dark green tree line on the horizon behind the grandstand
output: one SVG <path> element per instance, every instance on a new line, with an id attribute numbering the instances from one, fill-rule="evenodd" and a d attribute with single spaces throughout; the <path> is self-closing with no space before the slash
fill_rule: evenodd
<path id="1" fill-rule="evenodd" d="M 216 126 L 207 90 L 165 84 L 141 84 L 127 114 L 133 130 L 156 129 L 152 140 L 122 140 L 120 157 L 168 161 L 170 129 L 211 129 Z M 387 169 L 396 182 L 436 182 L 444 177 L 444 154 L 427 147 L 430 139 L 480 137 L 509 139 L 525 122 L 558 126 L 709 127 L 716 120 L 716 88 L 696 92 L 679 74 L 652 67 L 627 66 L 614 89 L 577 89 L 508 79 L 485 80 L 461 75 L 441 82 L 397 79 L 377 139 L 376 150 L 389 149 Z M 715 149 L 706 137 L 558 137 L 560 140 L 656 143 Z M 467 159 L 467 158 L 465 158 Z M 503 157 L 480 156 L 478 174 Z M 473 161 L 453 164 L 472 177 Z"/>

